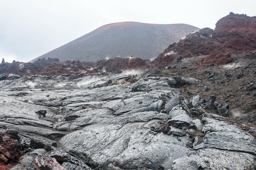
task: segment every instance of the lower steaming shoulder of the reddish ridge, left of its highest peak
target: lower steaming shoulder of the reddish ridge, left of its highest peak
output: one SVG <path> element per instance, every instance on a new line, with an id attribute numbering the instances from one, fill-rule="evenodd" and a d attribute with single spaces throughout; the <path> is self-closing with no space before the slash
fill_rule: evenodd
<path id="1" fill-rule="evenodd" d="M 151 64 L 155 68 L 163 68 L 176 62 L 180 56 L 188 58 L 212 53 L 227 53 L 220 42 L 213 40 L 213 34 L 213 30 L 209 28 L 191 33 L 185 39 L 169 45 Z"/>

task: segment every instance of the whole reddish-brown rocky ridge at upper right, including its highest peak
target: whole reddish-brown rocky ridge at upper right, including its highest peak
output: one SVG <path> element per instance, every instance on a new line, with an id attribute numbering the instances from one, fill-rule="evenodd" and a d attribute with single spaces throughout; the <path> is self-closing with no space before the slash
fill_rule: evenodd
<path id="1" fill-rule="evenodd" d="M 230 59 L 225 58 L 223 62 L 220 60 L 223 60 L 227 53 L 241 54 L 255 49 L 256 16 L 230 13 L 216 23 L 214 31 L 204 28 L 187 35 L 183 40 L 169 45 L 151 64 L 160 68 L 176 62 L 179 56 L 186 58 L 200 55 L 210 55 L 205 59 L 209 62 L 226 64 Z M 213 60 L 213 57 L 217 58 Z M 198 65 L 207 64 L 207 61 L 202 62 Z"/>

